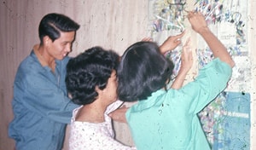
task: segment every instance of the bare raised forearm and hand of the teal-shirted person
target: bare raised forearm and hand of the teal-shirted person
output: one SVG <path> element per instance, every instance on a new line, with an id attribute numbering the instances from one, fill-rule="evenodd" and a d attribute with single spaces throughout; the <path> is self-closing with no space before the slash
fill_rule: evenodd
<path id="1" fill-rule="evenodd" d="M 202 38 L 207 42 L 209 48 L 212 50 L 214 57 L 218 57 L 221 61 L 226 62 L 231 67 L 235 66 L 235 62 L 232 60 L 224 44 L 221 43 L 218 38 L 210 31 L 207 26 L 205 17 L 200 12 L 188 12 L 189 22 L 192 29 L 198 32 Z"/>

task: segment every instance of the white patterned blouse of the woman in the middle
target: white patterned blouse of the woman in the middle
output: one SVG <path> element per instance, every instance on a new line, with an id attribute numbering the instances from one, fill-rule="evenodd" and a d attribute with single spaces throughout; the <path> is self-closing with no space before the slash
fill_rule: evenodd
<path id="1" fill-rule="evenodd" d="M 136 147 L 127 147 L 116 141 L 114 137 L 111 118 L 108 113 L 117 109 L 122 101 L 115 101 L 108 106 L 105 112 L 105 122 L 94 124 L 89 122 L 76 121 L 76 115 L 79 108 L 73 110 L 73 118 L 71 119 L 71 130 L 69 137 L 70 150 L 136 150 Z"/>

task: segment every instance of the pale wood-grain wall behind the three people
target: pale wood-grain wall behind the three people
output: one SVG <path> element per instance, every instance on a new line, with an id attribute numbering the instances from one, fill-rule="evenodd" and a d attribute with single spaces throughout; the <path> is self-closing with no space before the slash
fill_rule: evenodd
<path id="1" fill-rule="evenodd" d="M 189 1 L 189 0 L 188 0 Z M 256 7 L 249 0 L 249 48 L 252 48 L 252 147 L 256 149 Z M 190 0 L 194 2 L 194 0 Z M 38 23 L 44 14 L 67 14 L 80 25 L 71 55 L 77 55 L 91 46 L 114 49 L 120 55 L 131 43 L 148 35 L 148 0 L 2 0 L 0 3 L 0 150 L 14 149 L 15 142 L 7 136 L 13 118 L 11 100 L 15 72 L 32 45 L 38 43 Z M 117 137 L 132 144 L 125 124 L 115 124 Z M 67 130 L 68 131 L 68 130 Z M 126 138 L 128 136 L 128 139 Z M 67 149 L 67 141 L 64 149 Z"/>

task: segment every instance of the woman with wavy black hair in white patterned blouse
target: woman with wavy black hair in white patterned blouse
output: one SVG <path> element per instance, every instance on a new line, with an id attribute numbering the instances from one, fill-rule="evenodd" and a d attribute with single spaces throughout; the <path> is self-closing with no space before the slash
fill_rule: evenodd
<path id="1" fill-rule="evenodd" d="M 118 108 L 116 68 L 119 55 L 94 47 L 67 64 L 67 91 L 76 104 L 73 111 L 69 149 L 136 149 L 114 140 L 108 113 Z"/>

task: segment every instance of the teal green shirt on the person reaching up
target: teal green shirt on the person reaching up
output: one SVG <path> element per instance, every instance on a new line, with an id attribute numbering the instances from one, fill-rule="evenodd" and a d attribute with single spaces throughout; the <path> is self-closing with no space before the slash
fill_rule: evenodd
<path id="1" fill-rule="evenodd" d="M 210 149 L 197 113 L 225 89 L 231 73 L 228 64 L 215 59 L 183 88 L 160 89 L 138 101 L 126 113 L 137 149 Z"/>

